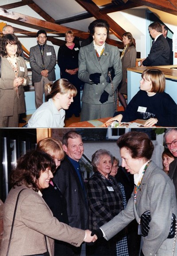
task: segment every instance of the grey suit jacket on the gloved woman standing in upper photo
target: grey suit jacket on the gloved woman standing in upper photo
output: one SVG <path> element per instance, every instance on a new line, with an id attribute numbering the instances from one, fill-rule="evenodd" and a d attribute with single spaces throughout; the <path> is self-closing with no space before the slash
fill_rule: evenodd
<path id="1" fill-rule="evenodd" d="M 122 63 L 120 60 L 119 49 L 105 43 L 104 53 L 99 61 L 93 43 L 80 48 L 78 77 L 85 82 L 81 98 L 82 102 L 87 104 L 101 104 L 99 101 L 100 96 L 105 90 L 108 92 L 109 97 L 108 101 L 104 104 L 113 103 L 112 86 L 111 83 L 106 82 L 108 68 L 112 66 L 115 70 L 115 77 L 112 81 L 115 92 L 122 79 Z M 101 73 L 100 84 L 96 85 L 90 83 L 89 76 L 92 73 Z"/>

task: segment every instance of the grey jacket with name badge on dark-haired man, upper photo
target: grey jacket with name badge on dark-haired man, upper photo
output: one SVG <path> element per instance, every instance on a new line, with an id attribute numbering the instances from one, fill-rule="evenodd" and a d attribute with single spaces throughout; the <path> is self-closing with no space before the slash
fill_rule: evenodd
<path id="1" fill-rule="evenodd" d="M 50 81 L 54 81 L 56 79 L 55 65 L 57 58 L 53 46 L 45 44 L 43 60 L 45 69 L 49 70 L 49 75 L 47 78 Z M 30 66 L 32 69 L 32 82 L 40 82 L 42 79 L 42 56 L 38 44 L 30 48 Z"/>

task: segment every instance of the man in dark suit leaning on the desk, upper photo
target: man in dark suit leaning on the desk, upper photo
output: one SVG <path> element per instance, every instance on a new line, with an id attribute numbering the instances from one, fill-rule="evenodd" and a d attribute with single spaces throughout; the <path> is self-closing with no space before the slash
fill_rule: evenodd
<path id="1" fill-rule="evenodd" d="M 169 65 L 169 44 L 162 34 L 162 25 L 159 22 L 151 23 L 149 33 L 154 43 L 146 59 L 142 60 L 142 66 Z"/>

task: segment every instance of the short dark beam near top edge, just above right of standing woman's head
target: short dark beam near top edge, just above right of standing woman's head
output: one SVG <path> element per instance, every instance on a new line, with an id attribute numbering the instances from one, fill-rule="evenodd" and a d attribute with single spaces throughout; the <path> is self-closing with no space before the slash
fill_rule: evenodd
<path id="1" fill-rule="evenodd" d="M 126 4 L 112 5 L 109 7 L 101 8 L 100 13 L 107 14 L 107 13 L 112 13 L 112 12 L 120 12 L 120 11 L 124 11 L 127 9 L 139 7 L 139 6 L 142 6 L 142 4 L 137 4 L 132 1 L 128 1 Z"/>

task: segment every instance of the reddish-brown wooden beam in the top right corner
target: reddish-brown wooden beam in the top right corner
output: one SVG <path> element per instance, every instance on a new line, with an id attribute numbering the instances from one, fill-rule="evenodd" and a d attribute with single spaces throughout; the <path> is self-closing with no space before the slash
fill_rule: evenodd
<path id="1" fill-rule="evenodd" d="M 177 0 L 131 0 L 137 4 L 142 4 L 147 7 L 155 8 L 157 10 L 168 12 L 177 16 Z"/>

